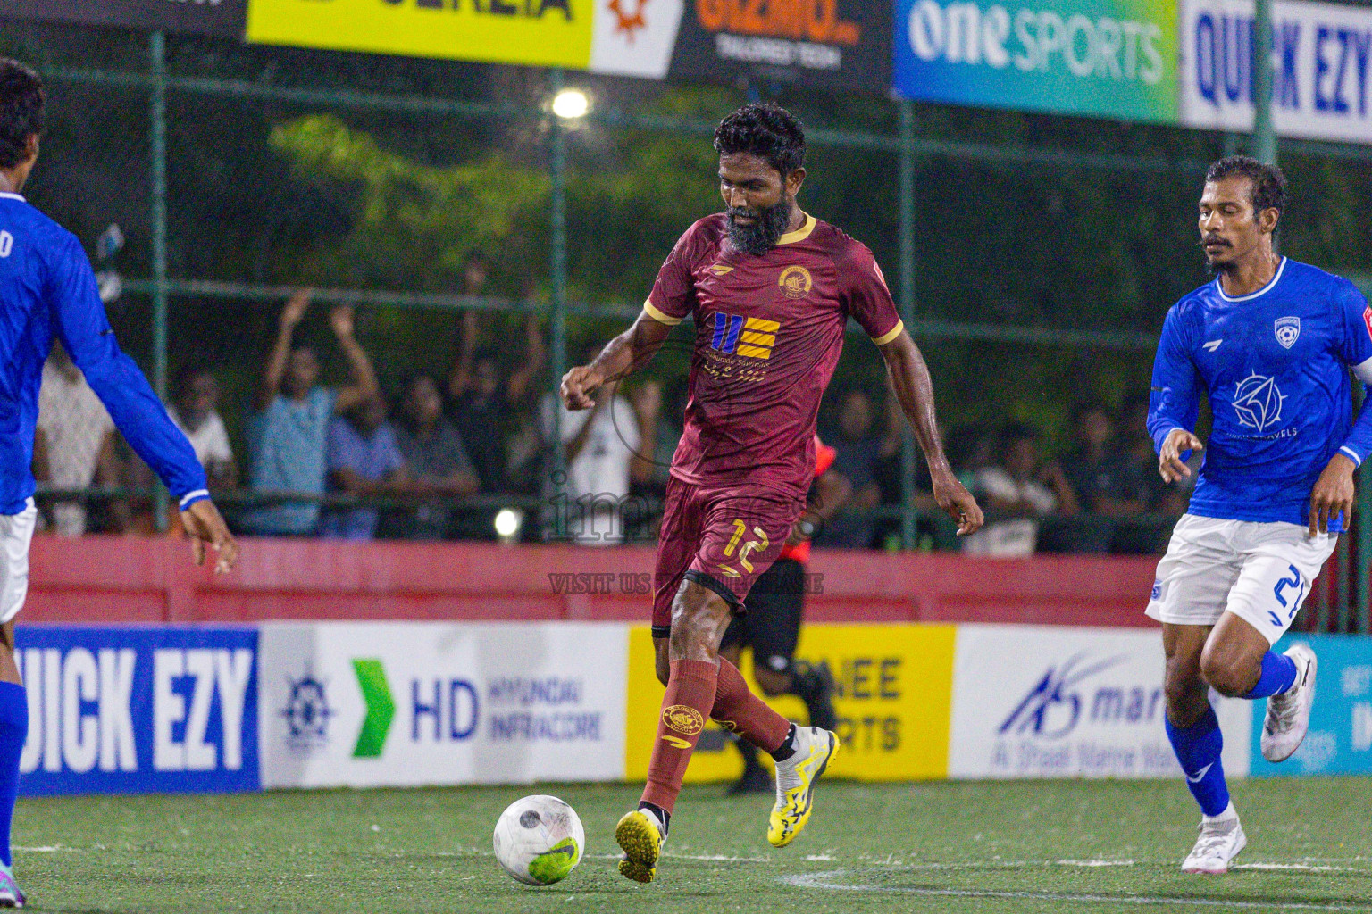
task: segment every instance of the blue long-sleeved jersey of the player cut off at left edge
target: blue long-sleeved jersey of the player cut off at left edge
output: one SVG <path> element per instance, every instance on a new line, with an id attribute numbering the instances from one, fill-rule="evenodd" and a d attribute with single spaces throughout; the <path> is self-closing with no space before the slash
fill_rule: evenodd
<path id="1" fill-rule="evenodd" d="M 0 514 L 23 511 L 33 495 L 38 385 L 54 336 L 181 508 L 209 497 L 191 443 L 119 351 L 81 243 L 18 193 L 0 193 Z"/>

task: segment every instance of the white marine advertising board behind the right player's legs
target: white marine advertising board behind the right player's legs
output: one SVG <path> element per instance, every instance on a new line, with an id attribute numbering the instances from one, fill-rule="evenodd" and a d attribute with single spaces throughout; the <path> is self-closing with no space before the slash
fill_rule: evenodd
<path id="1" fill-rule="evenodd" d="M 1155 629 L 959 625 L 948 776 L 1180 777 Z M 1253 702 L 1224 699 L 1224 769 L 1249 771 Z"/>

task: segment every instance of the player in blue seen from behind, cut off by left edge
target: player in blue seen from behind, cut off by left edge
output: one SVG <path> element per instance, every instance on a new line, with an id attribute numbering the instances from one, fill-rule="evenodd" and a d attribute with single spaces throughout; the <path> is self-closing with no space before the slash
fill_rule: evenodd
<path id="1" fill-rule="evenodd" d="M 19 755 L 29 729 L 29 703 L 14 660 L 14 618 L 29 589 L 37 518 L 33 436 L 43 363 L 54 337 L 177 499 L 195 562 L 204 560 L 206 545 L 218 552 L 221 573 L 237 560 L 237 544 L 210 500 L 191 443 L 114 340 L 81 243 L 19 195 L 38 160 L 43 100 L 37 74 L 0 58 L 0 907 L 25 902 L 10 854 Z"/>

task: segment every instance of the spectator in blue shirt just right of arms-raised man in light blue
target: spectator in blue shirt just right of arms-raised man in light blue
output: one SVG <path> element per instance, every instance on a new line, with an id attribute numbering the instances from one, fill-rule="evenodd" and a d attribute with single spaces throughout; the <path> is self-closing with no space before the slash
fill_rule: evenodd
<path id="1" fill-rule="evenodd" d="M 329 423 L 327 447 L 332 492 L 375 497 L 413 491 L 381 397 L 364 400 L 336 417 Z M 375 507 L 331 508 L 324 512 L 321 533 L 339 540 L 370 540 L 379 518 Z"/>

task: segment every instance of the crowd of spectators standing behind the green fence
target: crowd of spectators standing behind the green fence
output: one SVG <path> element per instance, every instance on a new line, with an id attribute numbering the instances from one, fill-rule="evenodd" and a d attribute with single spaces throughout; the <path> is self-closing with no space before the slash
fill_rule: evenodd
<path id="1" fill-rule="evenodd" d="M 466 278 L 468 292 L 479 292 L 480 259 L 468 263 Z M 243 422 L 241 454 L 207 366 L 182 367 L 172 385 L 167 410 L 240 533 L 590 545 L 656 537 L 682 432 L 685 378 L 667 389 L 656 381 L 631 391 L 609 385 L 597 392 L 594 408 L 568 412 L 547 391 L 547 345 L 536 318 L 527 318 L 523 340 L 490 340 L 482 317 L 466 311 L 446 375 L 413 373 L 383 385 L 354 334 L 348 306 L 329 312 L 329 351 L 296 338 L 310 297 L 302 291 L 280 312 Z M 573 360 L 597 351 L 587 347 Z M 321 384 L 321 362 L 329 359 L 346 365 L 346 384 Z M 901 543 L 904 418 L 895 396 L 879 393 L 830 395 L 820 433 L 837 449 L 833 471 L 844 485 L 836 489 L 842 503 L 823 511 L 820 545 L 893 549 Z M 1147 411 L 1146 396 L 1118 410 L 1077 406 L 1073 445 L 1061 455 L 1045 454 L 1040 430 L 1022 422 L 948 429 L 949 459 L 988 523 L 958 540 L 916 459 L 910 492 L 919 547 L 996 556 L 1157 551 L 1187 492 L 1158 477 Z M 549 471 L 554 428 L 565 477 Z M 49 530 L 154 530 L 151 500 L 130 495 L 151 489 L 151 473 L 60 345 L 44 369 L 34 474 L 49 491 L 103 486 L 108 496 L 44 497 Z"/>

